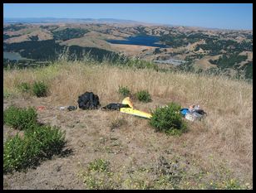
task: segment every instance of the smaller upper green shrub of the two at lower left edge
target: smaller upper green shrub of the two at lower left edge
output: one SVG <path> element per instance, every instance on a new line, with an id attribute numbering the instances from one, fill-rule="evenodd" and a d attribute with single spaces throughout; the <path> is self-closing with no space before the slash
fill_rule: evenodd
<path id="1" fill-rule="evenodd" d="M 22 109 L 11 105 L 3 111 L 3 123 L 15 129 L 26 130 L 37 123 L 37 111 L 32 107 Z"/>

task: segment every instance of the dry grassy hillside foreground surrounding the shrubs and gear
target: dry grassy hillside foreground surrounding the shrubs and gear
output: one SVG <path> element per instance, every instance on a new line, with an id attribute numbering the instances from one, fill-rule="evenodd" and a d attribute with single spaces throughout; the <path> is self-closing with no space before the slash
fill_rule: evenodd
<path id="1" fill-rule="evenodd" d="M 49 86 L 47 98 L 18 89 L 18 84 L 34 81 Z M 149 91 L 148 104 L 132 98 L 136 109 L 150 112 L 170 102 L 183 107 L 199 104 L 208 116 L 202 122 L 188 122 L 188 133 L 172 137 L 155 133 L 147 119 L 120 112 L 57 109 L 77 105 L 78 96 L 86 91 L 98 94 L 102 106 L 121 103 L 120 85 L 132 93 Z M 59 60 L 37 69 L 4 70 L 3 92 L 4 108 L 44 105 L 39 118 L 60 125 L 73 151 L 44 162 L 36 171 L 4 175 L 6 189 L 253 188 L 253 85 L 242 80 Z M 95 161 L 100 158 L 109 163 L 104 166 L 111 174 L 91 172 L 90 162 L 105 163 Z M 62 170 L 55 171 L 56 166 Z"/>

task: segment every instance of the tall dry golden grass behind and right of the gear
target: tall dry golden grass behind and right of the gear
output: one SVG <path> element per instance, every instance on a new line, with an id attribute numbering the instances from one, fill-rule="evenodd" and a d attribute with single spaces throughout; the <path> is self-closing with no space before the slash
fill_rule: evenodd
<path id="1" fill-rule="evenodd" d="M 183 155 L 190 152 L 196 155 L 194 159 L 198 160 L 200 166 L 214 172 L 219 172 L 219 164 L 225 162 L 239 180 L 252 183 L 252 84 L 222 76 L 162 73 L 58 61 L 42 69 L 5 70 L 3 89 L 17 93 L 17 84 L 35 80 L 44 80 L 49 84 L 51 94 L 47 99 L 51 106 L 76 105 L 78 96 L 86 91 L 98 94 L 102 105 L 121 103 L 119 85 L 127 86 L 132 93 L 148 89 L 153 99 L 151 103 L 134 102 L 137 109 L 148 112 L 171 101 L 183 107 L 199 104 L 208 116 L 200 123 L 189 123 L 189 133 L 171 139 L 175 153 Z M 102 113 L 102 116 L 105 118 L 106 113 Z M 115 119 L 115 116 L 111 118 L 112 121 Z M 133 117 L 128 123 L 140 125 Z M 146 132 L 149 125 L 145 121 L 141 124 L 140 128 L 145 128 L 142 132 Z M 158 137 L 144 140 L 150 141 L 155 147 L 167 146 L 163 144 L 167 139 L 161 142 Z"/>

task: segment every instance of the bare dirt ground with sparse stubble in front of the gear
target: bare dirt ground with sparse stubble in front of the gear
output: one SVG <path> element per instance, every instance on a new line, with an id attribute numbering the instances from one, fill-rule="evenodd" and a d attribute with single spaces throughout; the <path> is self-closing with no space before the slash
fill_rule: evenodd
<path id="1" fill-rule="evenodd" d="M 155 99 L 155 103 L 159 105 L 168 102 L 166 99 Z M 198 147 L 202 148 L 204 141 L 198 143 L 190 140 L 191 135 L 204 138 L 207 133 L 207 130 L 197 123 L 190 125 L 190 133 L 175 138 L 166 136 L 165 133 L 155 133 L 154 129 L 150 128 L 148 119 L 118 111 L 101 109 L 63 111 L 58 107 L 52 107 L 47 98 L 8 99 L 4 100 L 3 104 L 4 109 L 10 104 L 36 108 L 44 106 L 45 109 L 37 110 L 37 119 L 41 123 L 60 126 L 66 132 L 66 147 L 63 151 L 67 152 L 62 156 L 52 157 L 52 160 L 42 161 L 36 169 L 29 168 L 27 171 L 15 171 L 3 175 L 4 189 L 88 189 L 78 174 L 85 170 L 89 162 L 98 158 L 109 161 L 112 171 L 120 172 L 123 179 L 129 178 L 130 173 L 137 172 L 141 168 L 157 170 L 162 162 L 161 157 L 182 166 L 183 170 L 188 172 L 189 178 L 194 177 L 194 182 L 199 181 L 202 171 L 210 171 L 209 168 L 212 167 L 211 164 L 204 162 L 209 157 L 202 157 L 197 152 Z M 149 108 L 153 108 L 153 104 L 140 102 L 134 104 L 136 109 L 148 112 Z M 115 125 L 115 121 L 120 119 L 124 123 Z M 7 136 L 12 136 L 15 132 L 12 128 L 4 126 L 3 133 L 5 141 Z M 218 162 L 214 160 L 212 162 L 218 166 Z M 152 173 L 146 175 L 149 177 Z M 212 175 L 214 174 L 209 173 L 206 181 L 208 178 L 214 179 Z M 182 187 L 193 189 L 190 183 Z M 204 188 L 213 187 L 206 185 Z"/>

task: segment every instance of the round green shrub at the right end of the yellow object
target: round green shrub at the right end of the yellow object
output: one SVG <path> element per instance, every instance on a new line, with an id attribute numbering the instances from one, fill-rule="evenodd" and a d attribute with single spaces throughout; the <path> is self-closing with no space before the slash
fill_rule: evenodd
<path id="1" fill-rule="evenodd" d="M 187 126 L 180 114 L 180 104 L 170 103 L 165 107 L 156 108 L 152 112 L 150 125 L 157 132 L 165 132 L 170 135 L 185 133 Z"/>

